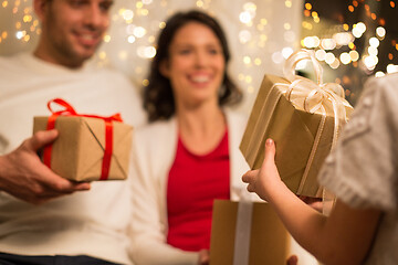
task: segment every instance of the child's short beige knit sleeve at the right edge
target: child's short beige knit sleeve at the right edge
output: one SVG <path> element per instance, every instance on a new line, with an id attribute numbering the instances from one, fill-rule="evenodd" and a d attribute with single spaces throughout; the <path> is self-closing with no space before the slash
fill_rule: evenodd
<path id="1" fill-rule="evenodd" d="M 398 77 L 398 75 L 395 75 Z M 318 176 L 354 208 L 397 208 L 398 78 L 374 78 Z"/>

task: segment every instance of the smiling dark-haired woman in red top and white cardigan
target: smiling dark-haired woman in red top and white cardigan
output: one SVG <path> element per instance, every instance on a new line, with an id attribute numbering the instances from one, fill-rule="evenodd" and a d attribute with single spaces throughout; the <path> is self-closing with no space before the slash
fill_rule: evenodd
<path id="1" fill-rule="evenodd" d="M 157 47 L 144 97 L 154 123 L 135 138 L 132 254 L 136 264 L 207 264 L 212 202 L 238 199 L 249 169 L 238 148 L 245 118 L 224 108 L 242 94 L 208 14 L 172 15 Z"/>

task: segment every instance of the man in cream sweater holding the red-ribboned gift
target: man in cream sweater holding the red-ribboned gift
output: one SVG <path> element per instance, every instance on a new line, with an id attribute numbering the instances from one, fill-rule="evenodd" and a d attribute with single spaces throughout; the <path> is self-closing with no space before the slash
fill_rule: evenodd
<path id="1" fill-rule="evenodd" d="M 48 116 L 54 97 L 78 113 L 144 123 L 129 82 L 84 63 L 108 28 L 113 1 L 33 2 L 42 26 L 34 53 L 0 59 L 0 264 L 132 264 L 128 179 L 63 179 L 36 156 L 57 131 L 30 137 L 33 116 Z"/>

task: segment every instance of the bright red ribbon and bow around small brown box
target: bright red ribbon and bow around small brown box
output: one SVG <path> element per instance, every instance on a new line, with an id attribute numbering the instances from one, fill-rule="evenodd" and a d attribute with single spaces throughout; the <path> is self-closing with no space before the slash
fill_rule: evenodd
<path id="1" fill-rule="evenodd" d="M 51 104 L 55 103 L 64 109 L 61 109 L 59 112 L 54 112 L 51 108 Z M 46 129 L 51 130 L 55 127 L 55 119 L 57 116 L 78 116 L 78 117 L 90 117 L 90 118 L 100 118 L 105 121 L 105 147 L 104 147 L 104 158 L 102 163 L 102 171 L 101 171 L 101 178 L 100 180 L 106 180 L 109 174 L 109 168 L 111 168 L 111 158 L 113 152 L 113 120 L 116 121 L 123 121 L 121 114 L 115 114 L 109 117 L 103 117 L 97 115 L 86 115 L 86 114 L 77 114 L 74 108 L 66 103 L 65 100 L 61 98 L 54 98 L 48 103 L 48 108 L 52 113 L 52 115 L 49 117 Z M 50 144 L 48 147 L 44 148 L 43 152 L 43 162 L 45 166 L 51 168 L 51 152 L 52 152 L 52 144 Z"/>

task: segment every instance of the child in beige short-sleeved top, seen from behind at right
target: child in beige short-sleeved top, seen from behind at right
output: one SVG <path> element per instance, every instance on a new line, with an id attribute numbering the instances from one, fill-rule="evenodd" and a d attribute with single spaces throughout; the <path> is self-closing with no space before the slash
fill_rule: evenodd
<path id="1" fill-rule="evenodd" d="M 324 264 L 398 264 L 398 74 L 365 85 L 320 182 L 337 197 L 329 218 L 300 201 L 281 181 L 275 146 L 260 170 L 242 179 L 276 210 L 293 237 Z M 277 142 L 276 142 L 277 144 Z"/>

